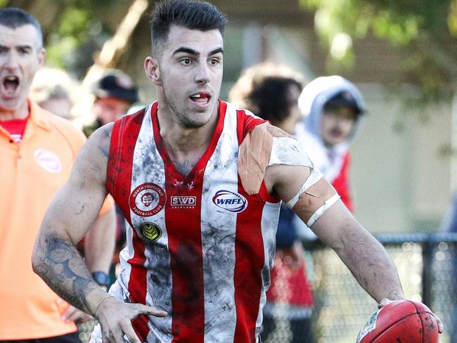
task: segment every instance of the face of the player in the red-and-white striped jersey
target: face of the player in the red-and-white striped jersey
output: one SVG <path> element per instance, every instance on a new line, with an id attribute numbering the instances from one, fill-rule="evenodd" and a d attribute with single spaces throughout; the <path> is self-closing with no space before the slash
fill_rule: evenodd
<path id="1" fill-rule="evenodd" d="M 158 60 L 146 59 L 146 73 L 157 86 L 159 111 L 181 127 L 202 127 L 217 113 L 223 46 L 219 30 L 172 25 Z"/>

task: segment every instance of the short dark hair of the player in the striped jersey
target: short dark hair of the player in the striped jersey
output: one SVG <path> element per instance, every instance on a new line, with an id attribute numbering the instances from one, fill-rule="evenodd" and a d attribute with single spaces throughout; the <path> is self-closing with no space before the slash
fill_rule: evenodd
<path id="1" fill-rule="evenodd" d="M 205 1 L 166 0 L 157 4 L 152 13 L 151 38 L 153 53 L 168 40 L 171 25 L 191 30 L 219 30 L 224 35 L 226 16 L 216 6 Z"/>

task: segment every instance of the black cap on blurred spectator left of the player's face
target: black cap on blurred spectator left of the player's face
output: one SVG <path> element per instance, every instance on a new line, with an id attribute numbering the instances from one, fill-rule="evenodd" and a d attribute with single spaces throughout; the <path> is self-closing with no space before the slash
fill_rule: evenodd
<path id="1" fill-rule="evenodd" d="M 129 103 L 138 101 L 138 89 L 131 77 L 119 70 L 108 72 L 99 79 L 93 93 L 98 98 L 117 98 Z"/>

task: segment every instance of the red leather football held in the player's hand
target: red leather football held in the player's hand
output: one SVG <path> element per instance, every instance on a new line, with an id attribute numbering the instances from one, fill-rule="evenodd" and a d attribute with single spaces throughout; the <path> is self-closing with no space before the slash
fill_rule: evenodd
<path id="1" fill-rule="evenodd" d="M 356 343 L 438 343 L 438 324 L 421 302 L 398 300 L 373 313 Z"/>

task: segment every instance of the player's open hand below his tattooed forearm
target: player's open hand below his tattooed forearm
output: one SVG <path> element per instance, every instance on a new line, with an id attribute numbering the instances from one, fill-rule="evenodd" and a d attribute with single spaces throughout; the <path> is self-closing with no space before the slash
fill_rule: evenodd
<path id="1" fill-rule="evenodd" d="M 104 299 L 95 313 L 103 343 L 124 343 L 124 335 L 130 343 L 141 343 L 131 325 L 131 321 L 141 315 L 165 317 L 167 312 L 154 306 L 120 302 L 115 297 Z"/>

